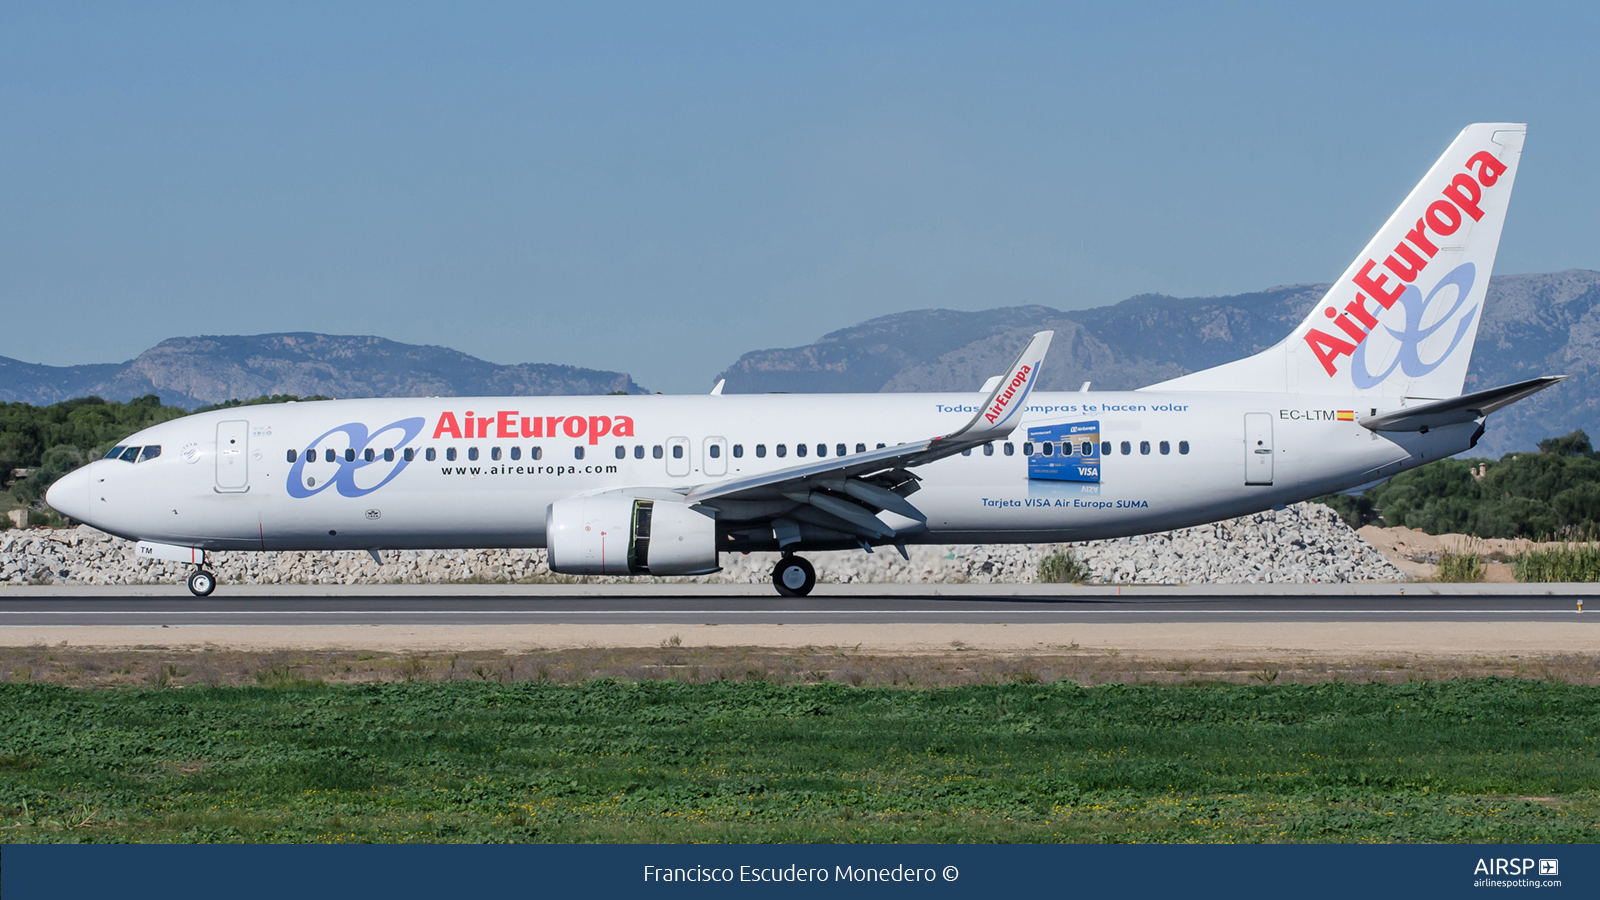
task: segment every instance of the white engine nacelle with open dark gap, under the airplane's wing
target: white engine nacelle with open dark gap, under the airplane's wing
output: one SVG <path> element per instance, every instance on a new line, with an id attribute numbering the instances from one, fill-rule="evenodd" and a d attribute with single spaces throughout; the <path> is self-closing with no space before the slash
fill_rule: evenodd
<path id="1" fill-rule="evenodd" d="M 706 575 L 717 572 L 717 520 L 686 503 L 574 496 L 544 517 L 550 572 Z"/>

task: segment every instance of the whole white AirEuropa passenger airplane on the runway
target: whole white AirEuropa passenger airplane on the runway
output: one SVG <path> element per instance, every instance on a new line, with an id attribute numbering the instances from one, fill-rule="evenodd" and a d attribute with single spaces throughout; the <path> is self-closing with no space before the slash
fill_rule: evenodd
<path id="1" fill-rule="evenodd" d="M 189 564 L 227 551 L 546 548 L 570 575 L 779 551 L 1067 543 L 1376 484 L 1477 445 L 1565 376 L 1462 394 L 1525 125 L 1470 125 L 1283 341 L 1138 391 L 1035 391 L 1051 333 L 974 392 L 357 399 L 166 421 L 54 509 Z"/>

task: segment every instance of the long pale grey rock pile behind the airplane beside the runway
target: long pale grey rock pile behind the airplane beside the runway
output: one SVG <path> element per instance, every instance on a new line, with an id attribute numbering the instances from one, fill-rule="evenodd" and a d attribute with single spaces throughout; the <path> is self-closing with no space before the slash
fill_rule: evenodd
<path id="1" fill-rule="evenodd" d="M 925 544 L 877 552 L 810 556 L 824 583 L 1029 583 L 1042 559 L 1074 552 L 1091 581 L 1144 585 L 1342 583 L 1398 581 L 1405 573 L 1352 532 L 1326 506 L 1301 503 L 1282 511 L 1078 544 Z M 218 552 L 211 569 L 222 585 L 363 585 L 363 583 L 539 583 L 552 575 L 542 549 L 384 551 L 378 565 L 366 552 Z M 725 554 L 723 570 L 696 583 L 765 583 L 778 554 Z M 0 533 L 0 583 L 32 585 L 173 585 L 187 567 L 141 560 L 133 544 L 78 528 Z M 589 578 L 594 583 L 629 578 Z"/>

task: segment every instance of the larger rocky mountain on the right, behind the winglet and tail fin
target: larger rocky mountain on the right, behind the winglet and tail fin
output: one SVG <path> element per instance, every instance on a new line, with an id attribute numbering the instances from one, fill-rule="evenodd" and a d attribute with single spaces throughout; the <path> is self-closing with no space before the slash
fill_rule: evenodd
<path id="1" fill-rule="evenodd" d="M 1027 336 L 1054 328 L 1046 391 L 1126 391 L 1219 365 L 1283 340 L 1328 285 L 1290 285 L 1211 298 L 1141 295 L 1098 309 L 1010 306 L 922 309 L 870 319 L 803 348 L 754 351 L 723 378 L 725 392 L 976 391 L 1005 370 Z M 1536 375 L 1565 383 L 1496 413 L 1477 453 L 1531 450 L 1582 428 L 1600 436 L 1600 272 L 1496 275 L 1467 389 Z"/>

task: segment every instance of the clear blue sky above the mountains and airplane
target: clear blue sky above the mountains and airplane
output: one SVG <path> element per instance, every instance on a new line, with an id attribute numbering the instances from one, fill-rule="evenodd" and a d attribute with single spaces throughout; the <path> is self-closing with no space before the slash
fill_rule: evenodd
<path id="1" fill-rule="evenodd" d="M 1597 5 L 0 6 L 0 356 L 376 333 L 704 391 L 920 307 L 1336 277 L 1469 122 L 1600 267 Z"/>

